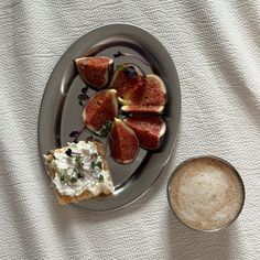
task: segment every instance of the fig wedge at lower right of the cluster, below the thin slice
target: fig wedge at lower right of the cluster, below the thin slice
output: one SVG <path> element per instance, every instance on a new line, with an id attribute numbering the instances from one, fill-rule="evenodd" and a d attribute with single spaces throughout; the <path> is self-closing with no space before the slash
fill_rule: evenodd
<path id="1" fill-rule="evenodd" d="M 142 148 L 147 150 L 160 148 L 166 131 L 166 123 L 160 116 L 133 115 L 123 121 L 136 132 Z"/>

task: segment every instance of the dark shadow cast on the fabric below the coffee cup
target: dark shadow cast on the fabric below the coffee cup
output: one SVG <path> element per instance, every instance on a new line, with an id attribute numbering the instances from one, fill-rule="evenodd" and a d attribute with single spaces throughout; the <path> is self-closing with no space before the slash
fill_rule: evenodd
<path id="1" fill-rule="evenodd" d="M 237 225 L 213 232 L 203 232 L 184 226 L 169 209 L 167 259 L 234 259 L 240 256 Z"/>

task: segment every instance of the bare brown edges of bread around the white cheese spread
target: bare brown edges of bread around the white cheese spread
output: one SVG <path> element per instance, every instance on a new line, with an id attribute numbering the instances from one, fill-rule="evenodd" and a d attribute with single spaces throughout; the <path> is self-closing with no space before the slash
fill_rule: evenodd
<path id="1" fill-rule="evenodd" d="M 109 166 L 108 166 L 108 163 L 107 163 L 106 158 L 105 158 L 105 150 L 104 150 L 102 143 L 95 140 L 95 139 L 93 139 L 93 138 L 89 138 L 87 141 L 90 141 L 90 142 L 96 144 L 98 155 L 100 155 L 101 160 L 102 160 L 104 170 L 109 172 Z M 52 161 L 54 153 L 64 153 L 67 149 L 68 149 L 68 147 L 63 147 L 61 149 L 52 150 L 51 153 L 47 155 L 46 161 Z M 56 172 L 52 167 L 48 167 L 48 174 L 50 174 L 51 180 L 53 181 L 53 178 L 55 177 Z M 62 204 L 62 205 L 69 204 L 69 203 L 78 203 L 80 201 L 85 201 L 85 199 L 88 199 L 88 198 L 91 198 L 91 197 L 95 196 L 88 189 L 84 191 L 78 196 L 76 196 L 76 195 L 75 196 L 63 195 L 58 192 L 58 189 L 56 188 L 55 185 L 53 185 L 53 186 L 54 186 L 55 195 L 58 199 L 58 203 Z M 100 191 L 100 193 L 96 196 L 99 196 L 101 194 L 111 194 L 111 191 L 104 186 L 102 189 Z"/>

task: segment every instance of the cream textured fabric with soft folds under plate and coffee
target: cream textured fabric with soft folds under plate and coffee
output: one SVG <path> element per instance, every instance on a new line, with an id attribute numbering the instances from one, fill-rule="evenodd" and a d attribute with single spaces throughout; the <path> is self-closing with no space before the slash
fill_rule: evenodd
<path id="1" fill-rule="evenodd" d="M 260 2 L 0 2 L 1 259 L 260 259 Z M 59 206 L 37 152 L 47 79 L 66 48 L 104 24 L 131 23 L 156 36 L 180 76 L 182 122 L 161 177 L 113 213 Z M 189 156 L 215 154 L 240 172 L 240 217 L 198 232 L 171 213 L 166 182 Z"/>

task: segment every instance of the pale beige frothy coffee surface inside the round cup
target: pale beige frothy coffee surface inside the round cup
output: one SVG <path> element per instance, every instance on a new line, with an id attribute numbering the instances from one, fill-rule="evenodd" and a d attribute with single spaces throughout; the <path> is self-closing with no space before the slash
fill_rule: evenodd
<path id="1" fill-rule="evenodd" d="M 210 230 L 230 224 L 243 202 L 243 187 L 238 175 L 223 161 L 194 159 L 172 178 L 170 203 L 187 226 Z"/>

